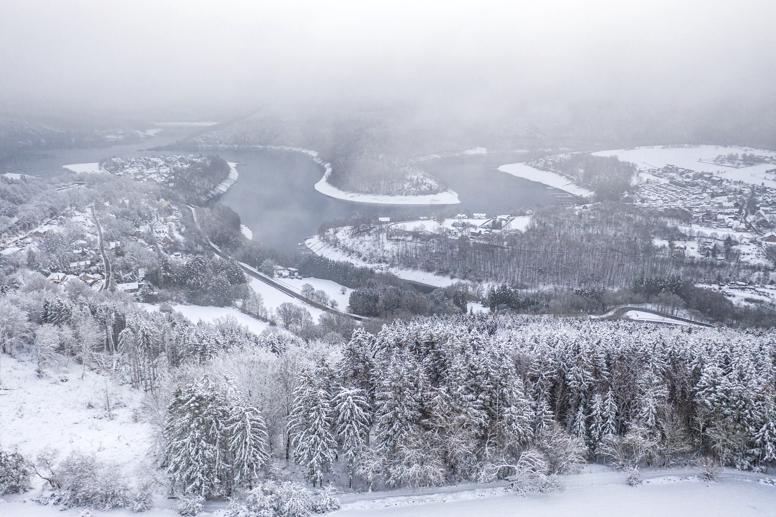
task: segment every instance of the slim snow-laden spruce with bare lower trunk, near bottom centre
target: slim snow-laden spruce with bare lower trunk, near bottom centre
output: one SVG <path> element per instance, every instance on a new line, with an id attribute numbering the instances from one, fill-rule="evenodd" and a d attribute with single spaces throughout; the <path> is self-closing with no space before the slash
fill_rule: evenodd
<path id="1" fill-rule="evenodd" d="M 337 413 L 334 428 L 347 464 L 348 488 L 352 488 L 356 458 L 369 437 L 371 411 L 365 391 L 360 388 L 341 388 L 334 395 L 334 409 Z"/>

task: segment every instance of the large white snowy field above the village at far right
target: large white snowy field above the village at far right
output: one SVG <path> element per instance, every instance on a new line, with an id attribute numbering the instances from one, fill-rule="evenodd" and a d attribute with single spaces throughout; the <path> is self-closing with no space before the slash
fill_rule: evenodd
<path id="1" fill-rule="evenodd" d="M 751 149 L 749 147 L 722 147 L 715 145 L 698 145 L 694 147 L 636 147 L 634 149 L 615 149 L 598 151 L 594 156 L 616 156 L 622 161 L 630 161 L 642 169 L 662 168 L 666 165 L 676 165 L 690 168 L 697 172 L 712 172 L 722 178 L 742 181 L 753 185 L 765 183 L 776 188 L 776 175 L 765 171 L 776 168 L 771 163 L 752 165 L 751 167 L 731 168 L 698 160 L 710 160 L 719 154 L 757 154 L 774 156 L 774 151 Z"/>

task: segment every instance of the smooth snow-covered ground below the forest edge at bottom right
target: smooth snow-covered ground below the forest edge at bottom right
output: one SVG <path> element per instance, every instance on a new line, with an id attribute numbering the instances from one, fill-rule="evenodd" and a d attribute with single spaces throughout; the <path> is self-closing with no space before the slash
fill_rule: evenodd
<path id="1" fill-rule="evenodd" d="M 757 475 L 726 471 L 721 481 L 699 481 L 683 474 L 653 475 L 652 482 L 639 487 L 625 484 L 625 474 L 604 471 L 572 477 L 566 491 L 556 494 L 528 494 L 521 498 L 497 488 L 469 491 L 407 494 L 346 502 L 333 517 L 480 517 L 531 515 L 532 517 L 760 517 L 774 514 L 776 488 L 758 482 Z M 761 477 L 761 476 L 759 476 Z M 560 477 L 566 483 L 565 477 Z M 571 480 L 568 480 L 571 481 Z M 577 484 L 578 482 L 578 484 Z M 370 494 L 379 497 L 379 494 Z"/>

